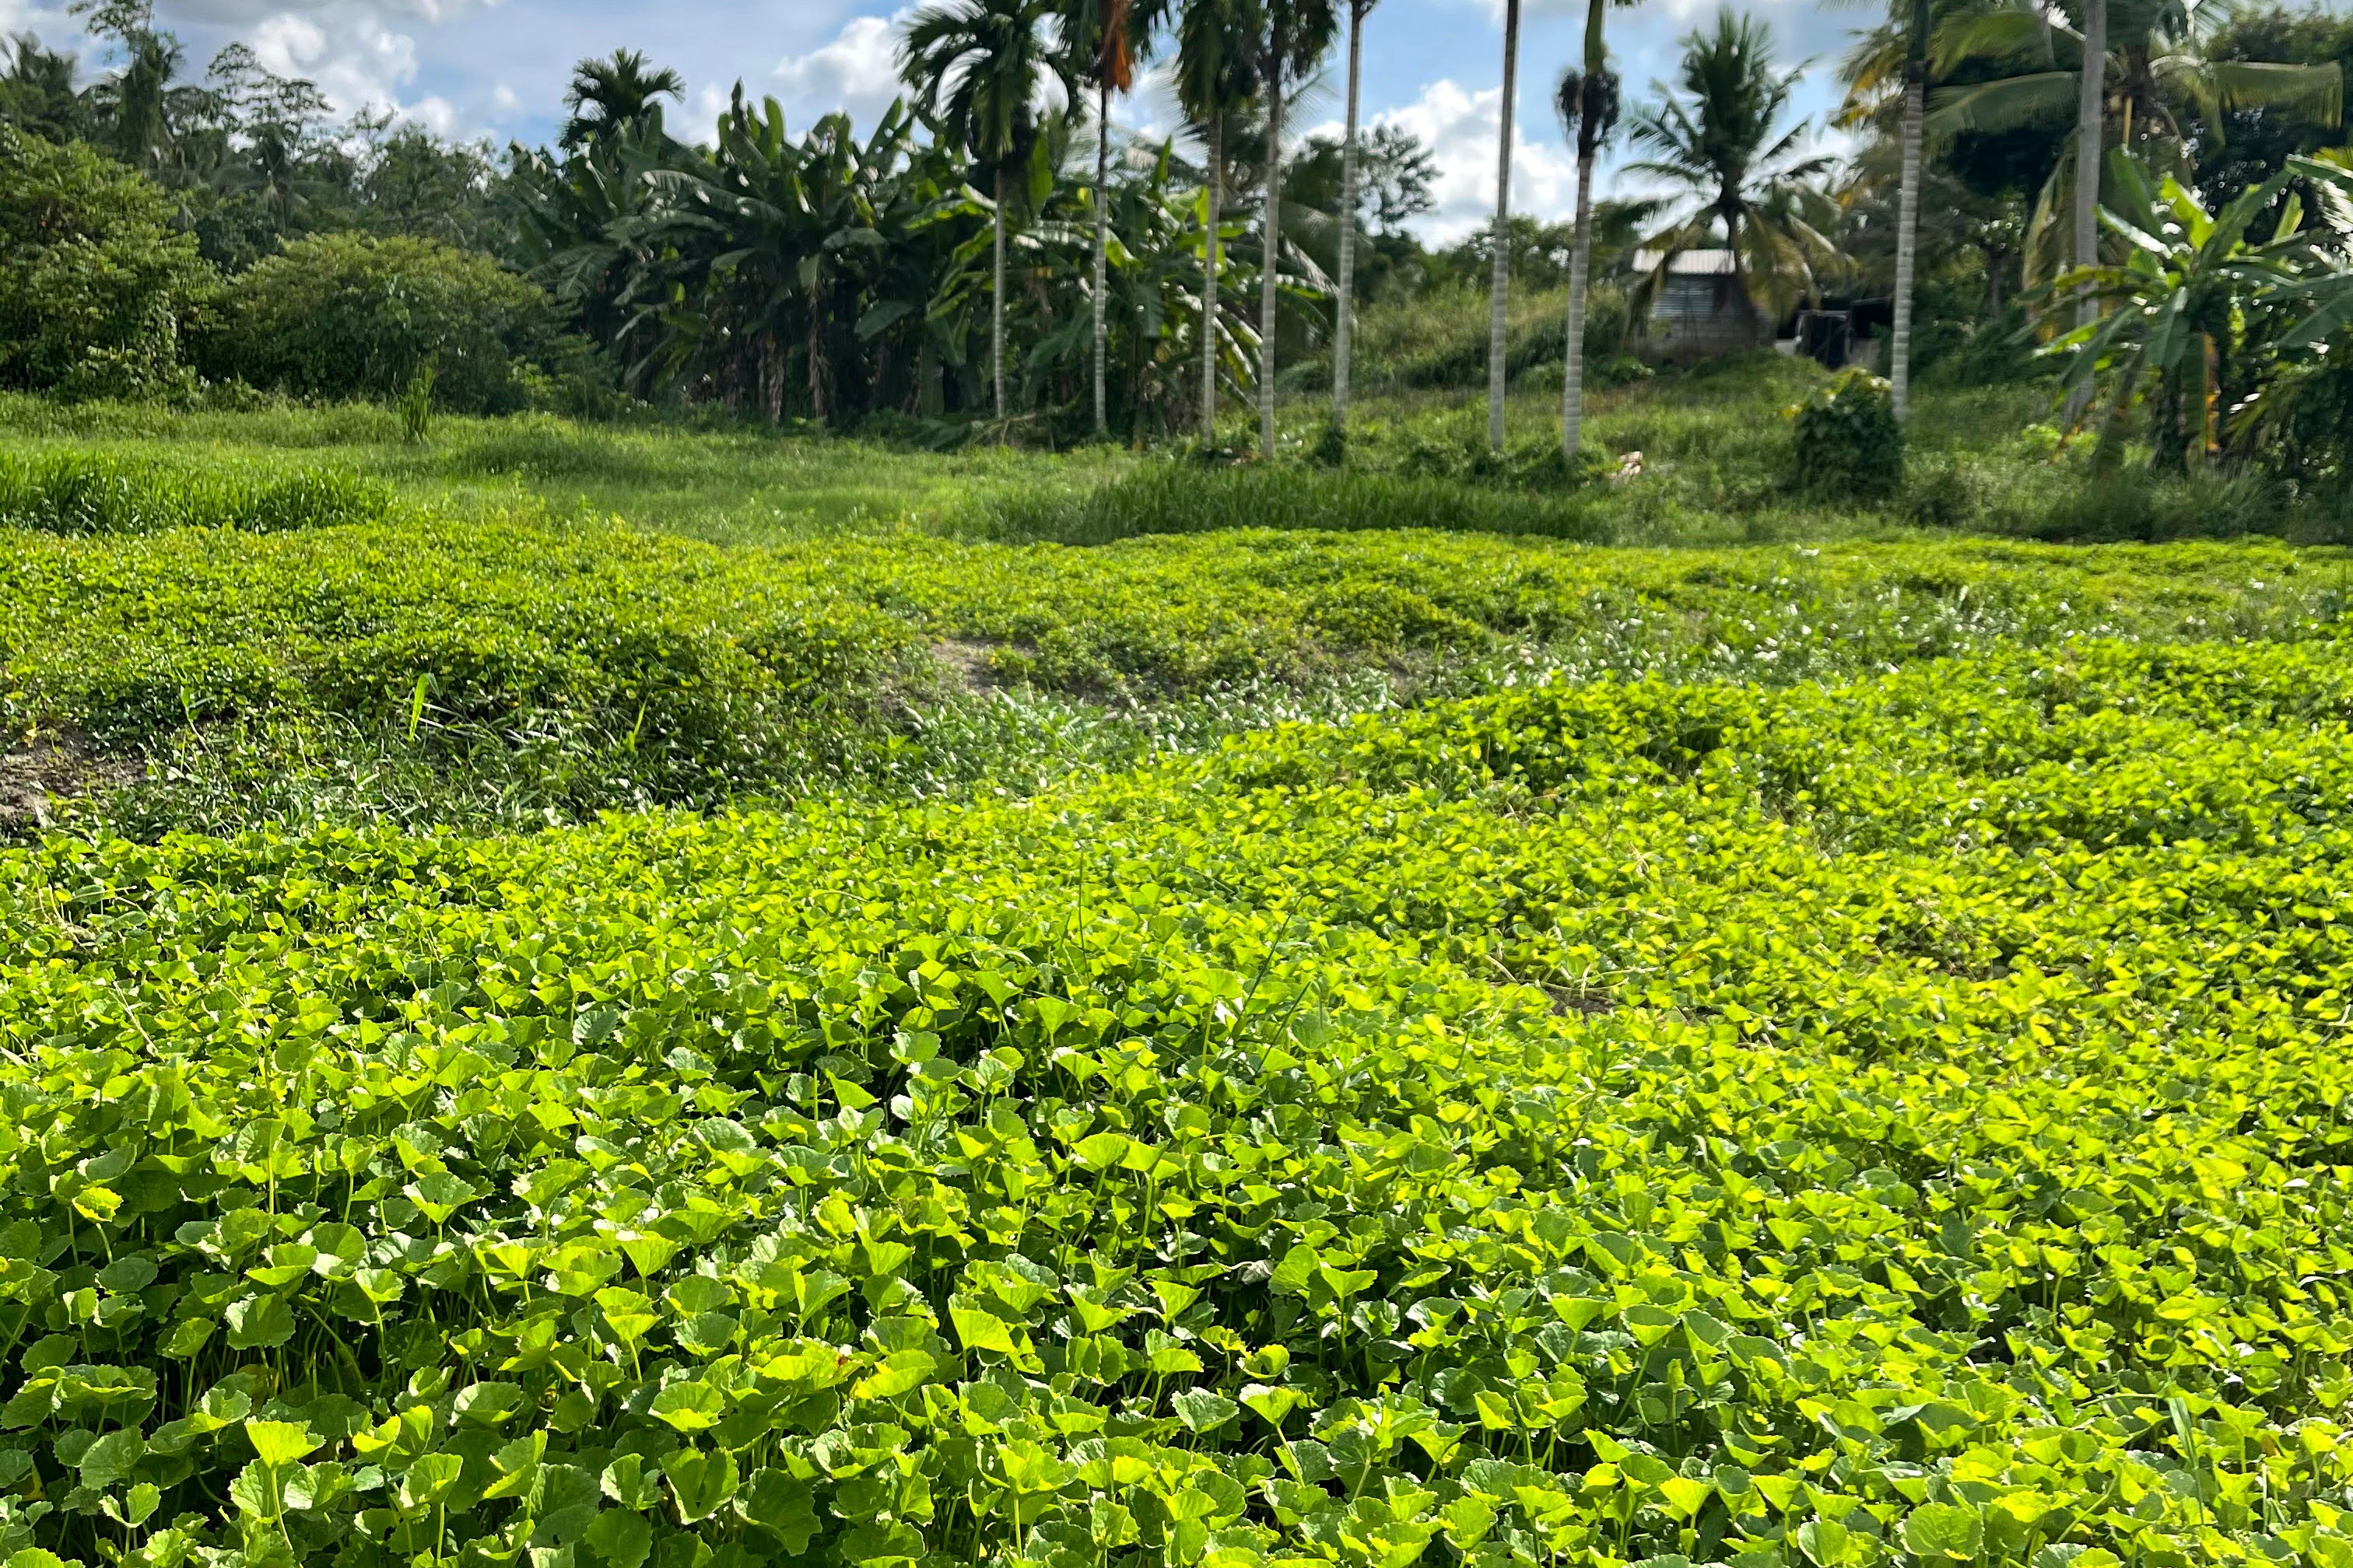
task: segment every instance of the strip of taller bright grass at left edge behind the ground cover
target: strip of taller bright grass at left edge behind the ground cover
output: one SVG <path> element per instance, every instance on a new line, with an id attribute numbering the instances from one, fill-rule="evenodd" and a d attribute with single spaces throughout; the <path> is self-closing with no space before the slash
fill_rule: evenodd
<path id="1" fill-rule="evenodd" d="M 99 451 L 0 451 L 0 527 L 9 529 L 278 534 L 381 522 L 391 505 L 391 484 L 341 468 L 191 468 Z"/>

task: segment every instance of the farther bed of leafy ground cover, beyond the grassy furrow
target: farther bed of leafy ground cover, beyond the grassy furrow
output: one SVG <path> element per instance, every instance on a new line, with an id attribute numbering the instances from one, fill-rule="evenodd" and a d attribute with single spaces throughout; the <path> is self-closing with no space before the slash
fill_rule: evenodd
<path id="1" fill-rule="evenodd" d="M 144 771 L 139 802 L 113 802 L 141 832 L 932 792 L 1539 668 L 1786 682 L 1993 642 L 2297 635 L 2344 588 L 2275 545 L 901 529 L 720 550 L 405 508 L 0 541 L 0 729 L 71 731 Z"/>

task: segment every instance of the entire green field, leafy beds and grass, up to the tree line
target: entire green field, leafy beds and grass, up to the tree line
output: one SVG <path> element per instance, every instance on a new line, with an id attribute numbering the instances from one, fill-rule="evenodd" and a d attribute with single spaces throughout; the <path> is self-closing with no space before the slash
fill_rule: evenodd
<path id="1" fill-rule="evenodd" d="M 1701 381 L 0 402 L 0 809 L 134 776 L 0 849 L 0 1556 L 2353 1568 L 2344 559 Z"/>

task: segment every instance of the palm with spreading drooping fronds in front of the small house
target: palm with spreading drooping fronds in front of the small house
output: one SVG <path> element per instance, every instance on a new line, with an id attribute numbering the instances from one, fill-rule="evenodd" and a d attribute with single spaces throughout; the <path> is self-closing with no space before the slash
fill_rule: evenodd
<path id="1" fill-rule="evenodd" d="M 1774 71 L 1772 28 L 1729 9 L 1713 31 L 1682 40 L 1680 87 L 1652 82 L 1659 101 L 1633 115 L 1633 141 L 1657 158 L 1626 165 L 1685 190 L 1685 207 L 1645 244 L 1657 266 L 1635 282 L 1628 308 L 1642 322 L 1666 282 L 1668 266 L 1687 249 L 1715 240 L 1732 256 L 1734 306 L 1755 329 L 1758 296 L 1774 317 L 1798 296 L 1819 299 L 1821 275 L 1842 266 L 1824 233 L 1835 202 L 1814 181 L 1828 158 L 1800 158 L 1807 125 L 1781 129 L 1798 71 Z"/>

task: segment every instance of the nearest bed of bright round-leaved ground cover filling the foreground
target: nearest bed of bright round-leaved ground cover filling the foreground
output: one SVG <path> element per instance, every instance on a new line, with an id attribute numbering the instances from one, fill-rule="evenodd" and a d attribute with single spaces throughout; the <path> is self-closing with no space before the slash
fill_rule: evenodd
<path id="1" fill-rule="evenodd" d="M 2341 644 L 0 856 L 0 1528 L 2341 1563 Z"/>

